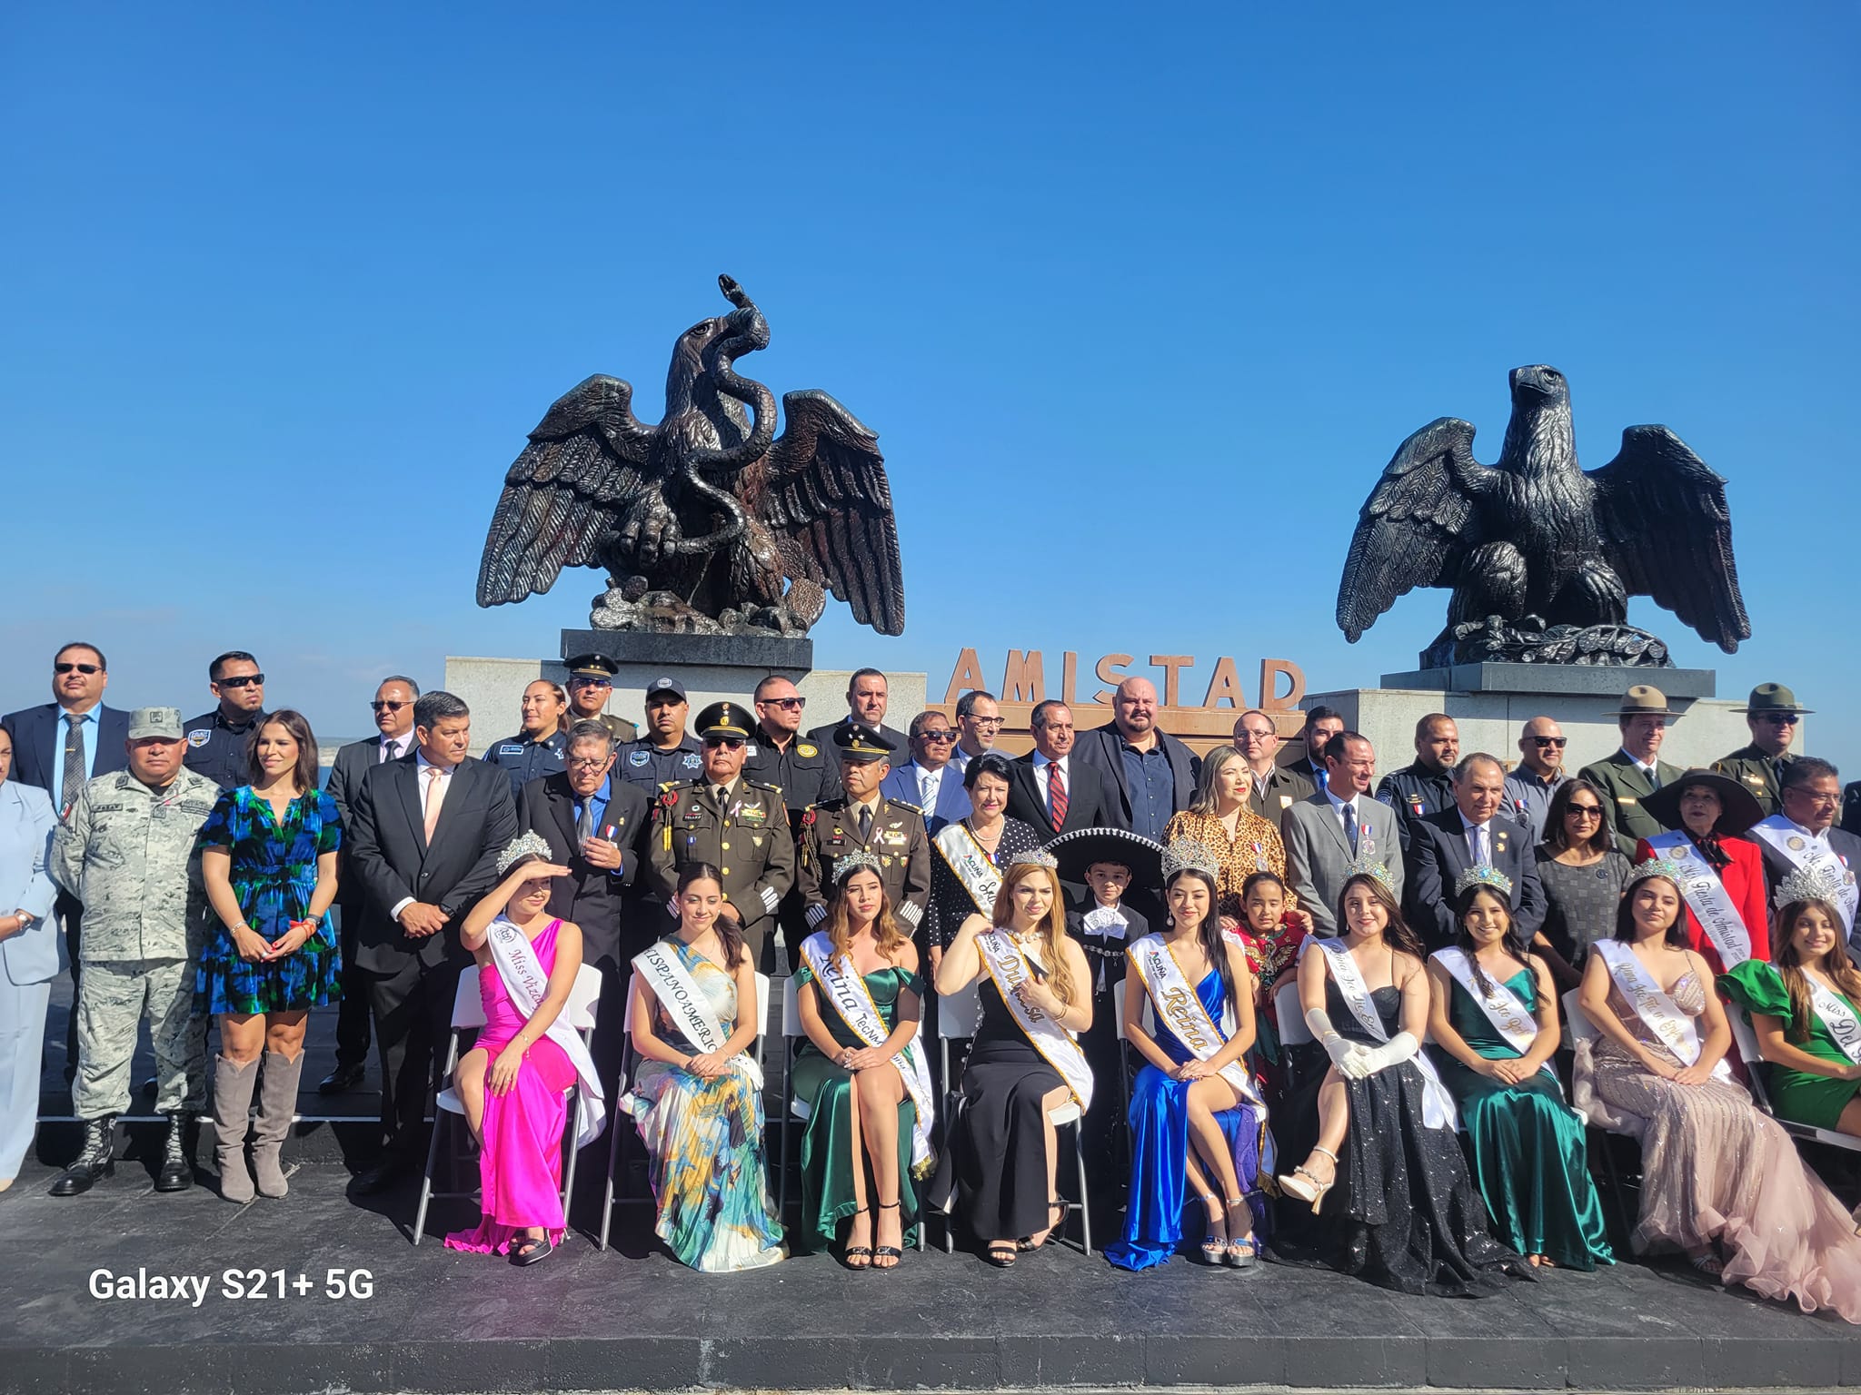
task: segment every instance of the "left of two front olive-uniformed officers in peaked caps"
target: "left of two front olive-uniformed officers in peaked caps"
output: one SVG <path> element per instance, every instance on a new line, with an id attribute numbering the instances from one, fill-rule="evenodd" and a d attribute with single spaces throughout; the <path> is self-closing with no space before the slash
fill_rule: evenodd
<path id="1" fill-rule="evenodd" d="M 769 973 L 776 906 L 795 885 L 795 835 L 782 790 L 744 779 L 750 714 L 737 703 L 703 709 L 698 740 L 703 779 L 668 787 L 653 805 L 653 889 L 670 902 L 685 867 L 716 867 L 724 878 L 724 913 L 743 926 L 756 967 Z"/>

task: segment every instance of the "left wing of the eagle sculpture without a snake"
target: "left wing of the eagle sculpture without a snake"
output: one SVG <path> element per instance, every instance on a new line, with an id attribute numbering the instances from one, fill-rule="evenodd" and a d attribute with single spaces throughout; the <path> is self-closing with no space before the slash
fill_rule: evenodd
<path id="1" fill-rule="evenodd" d="M 1465 480 L 1485 474 L 1474 428 L 1440 417 L 1396 448 L 1364 500 L 1338 582 L 1338 629 L 1353 644 L 1396 597 L 1416 586 L 1452 586 L 1479 543 L 1479 513 Z"/>

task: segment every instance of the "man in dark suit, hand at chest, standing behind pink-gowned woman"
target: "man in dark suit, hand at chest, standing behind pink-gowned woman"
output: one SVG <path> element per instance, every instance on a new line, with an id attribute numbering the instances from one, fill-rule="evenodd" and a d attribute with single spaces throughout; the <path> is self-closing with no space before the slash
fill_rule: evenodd
<path id="1" fill-rule="evenodd" d="M 614 774 L 614 737 L 603 724 L 577 722 L 568 738 L 566 768 L 523 787 L 517 822 L 543 837 L 549 861 L 569 869 L 549 884 L 549 913 L 581 926 L 582 963 L 601 971 L 592 1055 L 601 1079 L 614 1081 L 629 965 L 664 923 L 663 913 L 636 915 L 633 926 L 625 917 L 629 887 L 648 856 L 653 802 Z"/>

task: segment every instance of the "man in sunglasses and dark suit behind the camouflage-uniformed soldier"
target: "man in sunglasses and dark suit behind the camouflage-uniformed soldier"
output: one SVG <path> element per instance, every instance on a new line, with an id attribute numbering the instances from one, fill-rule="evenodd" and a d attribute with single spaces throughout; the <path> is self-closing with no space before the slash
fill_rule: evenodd
<path id="1" fill-rule="evenodd" d="M 37 785 L 52 796 L 63 818 L 91 776 L 128 770 L 128 712 L 104 707 L 110 664 L 95 644 L 67 644 L 52 655 L 52 701 L 22 707 L 0 718 L 13 738 L 13 779 Z M 76 1001 L 84 902 L 60 887 L 52 915 L 65 926 L 71 960 L 71 991 Z M 78 1070 L 78 1014 L 65 1014 L 65 1081 Z"/>

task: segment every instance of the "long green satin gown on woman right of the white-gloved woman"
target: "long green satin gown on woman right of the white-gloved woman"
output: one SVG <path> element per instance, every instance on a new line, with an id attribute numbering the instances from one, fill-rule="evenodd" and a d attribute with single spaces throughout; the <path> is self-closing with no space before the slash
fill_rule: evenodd
<path id="1" fill-rule="evenodd" d="M 1530 971 L 1506 982 L 1537 1014 L 1537 980 Z M 1448 1021 L 1487 1060 L 1517 1060 L 1472 995 L 1453 982 Z M 1440 1047 L 1429 1047 L 1440 1079 L 1461 1109 L 1461 1127 L 1474 1183 L 1493 1233 L 1522 1256 L 1541 1254 L 1563 1269 L 1612 1265 L 1602 1202 L 1589 1179 L 1584 1122 L 1563 1099 L 1548 1070 L 1520 1084 L 1502 1084 L 1468 1070 Z"/>

